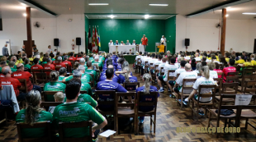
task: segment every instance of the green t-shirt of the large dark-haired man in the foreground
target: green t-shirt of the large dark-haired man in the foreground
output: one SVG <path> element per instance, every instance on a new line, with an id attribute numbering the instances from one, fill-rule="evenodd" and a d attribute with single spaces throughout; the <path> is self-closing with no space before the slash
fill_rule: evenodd
<path id="1" fill-rule="evenodd" d="M 59 122 L 79 122 L 79 121 L 94 121 L 98 125 L 102 124 L 105 117 L 97 112 L 88 103 L 62 103 L 55 108 L 53 117 L 53 125 L 55 130 L 59 129 Z M 88 128 L 67 128 L 64 130 L 66 137 L 80 138 L 89 135 Z"/>

